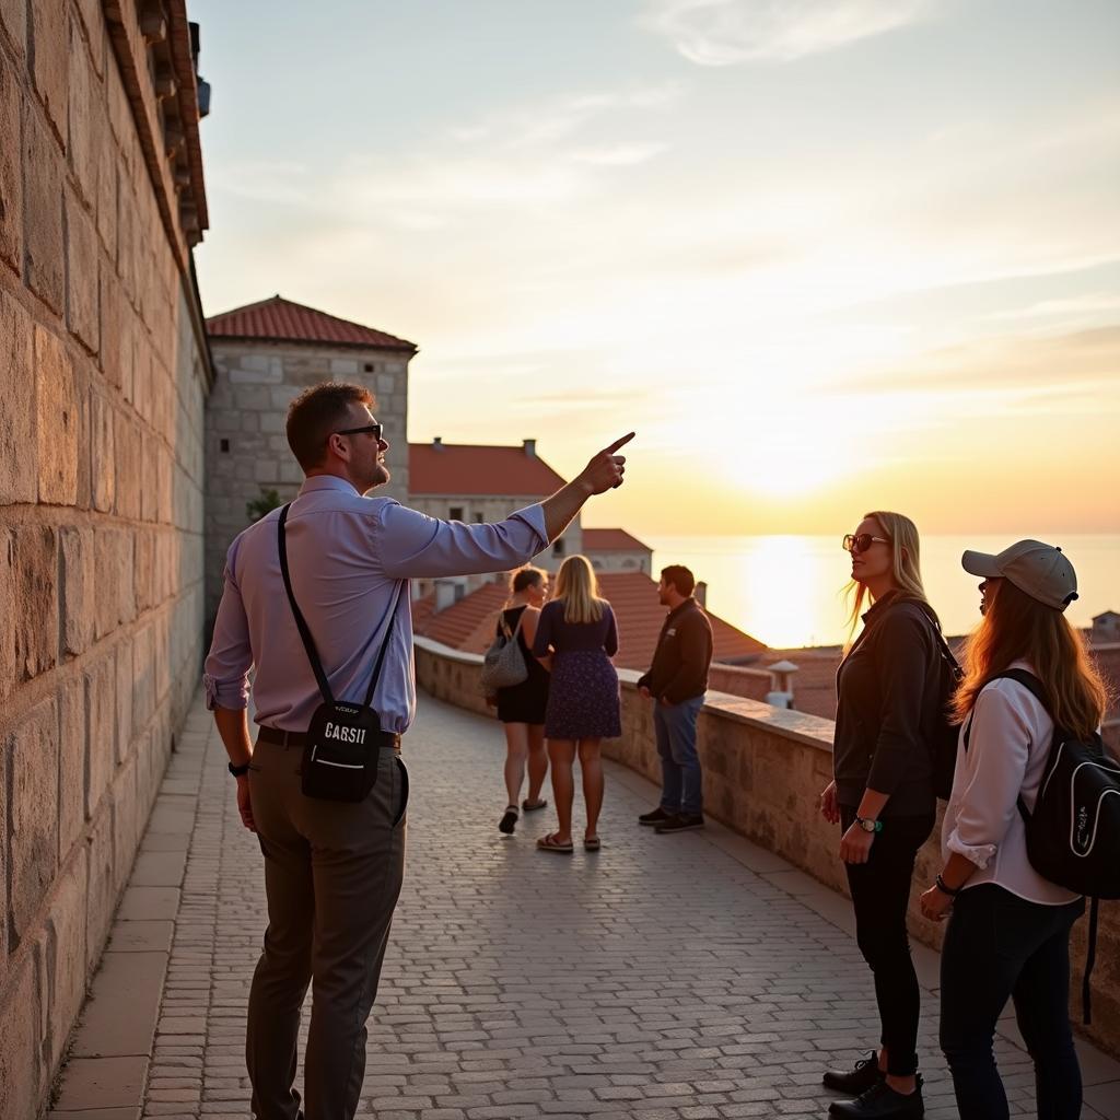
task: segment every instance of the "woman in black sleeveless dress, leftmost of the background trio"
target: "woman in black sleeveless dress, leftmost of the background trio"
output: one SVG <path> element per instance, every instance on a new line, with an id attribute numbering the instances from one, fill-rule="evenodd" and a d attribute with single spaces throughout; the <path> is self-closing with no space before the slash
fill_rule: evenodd
<path id="1" fill-rule="evenodd" d="M 498 829 L 506 834 L 517 827 L 517 799 L 529 764 L 529 796 L 521 803 L 526 812 L 543 809 L 541 786 L 549 771 L 544 749 L 544 711 L 549 702 L 549 671 L 532 655 L 533 638 L 541 607 L 549 594 L 548 572 L 540 568 L 521 568 L 510 580 L 510 599 L 495 633 L 516 633 L 521 655 L 529 675 L 521 684 L 497 690 L 497 718 L 505 728 L 506 806 Z"/>

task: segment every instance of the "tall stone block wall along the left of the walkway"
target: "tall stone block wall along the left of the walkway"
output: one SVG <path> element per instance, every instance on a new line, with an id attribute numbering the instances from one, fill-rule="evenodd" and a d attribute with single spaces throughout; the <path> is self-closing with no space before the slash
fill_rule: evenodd
<path id="1" fill-rule="evenodd" d="M 0 2 L 3 1117 L 46 1102 L 198 680 L 205 198 L 169 9 L 146 41 L 130 0 Z M 161 103 L 151 52 L 184 43 Z"/>

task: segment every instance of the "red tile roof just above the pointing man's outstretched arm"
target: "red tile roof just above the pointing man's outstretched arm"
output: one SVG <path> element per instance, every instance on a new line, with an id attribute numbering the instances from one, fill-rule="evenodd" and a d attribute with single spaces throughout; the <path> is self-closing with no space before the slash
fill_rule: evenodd
<path id="1" fill-rule="evenodd" d="M 542 498 L 564 479 L 523 447 L 409 444 L 409 493 Z"/>

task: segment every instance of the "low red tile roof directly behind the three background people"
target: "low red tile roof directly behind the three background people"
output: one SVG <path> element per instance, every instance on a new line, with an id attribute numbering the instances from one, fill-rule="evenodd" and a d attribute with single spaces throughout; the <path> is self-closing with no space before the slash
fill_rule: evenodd
<path id="1" fill-rule="evenodd" d="M 642 572 L 604 572 L 599 588 L 618 620 L 618 656 L 615 663 L 626 669 L 650 668 L 653 651 L 665 620 L 665 608 L 657 603 L 657 585 Z M 433 612 L 433 596 L 412 604 L 417 634 L 468 653 L 482 653 L 494 636 L 497 613 L 506 598 L 506 585 L 487 584 L 458 603 Z M 736 629 L 709 612 L 715 660 L 730 663 L 754 661 L 766 646 Z"/>

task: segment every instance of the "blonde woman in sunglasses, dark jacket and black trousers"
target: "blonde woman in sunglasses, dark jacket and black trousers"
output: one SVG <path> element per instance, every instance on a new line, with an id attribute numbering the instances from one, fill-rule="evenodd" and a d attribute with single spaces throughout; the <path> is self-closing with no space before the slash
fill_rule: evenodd
<path id="1" fill-rule="evenodd" d="M 933 830 L 931 730 L 941 703 L 936 615 L 925 601 L 914 523 L 869 513 L 843 541 L 851 553 L 855 632 L 837 673 L 834 781 L 820 810 L 840 823 L 856 937 L 875 976 L 881 1024 L 878 1054 L 824 1084 L 859 1094 L 836 1101 L 834 1117 L 921 1117 L 917 1076 L 920 996 L 906 934 L 917 850 Z"/>

